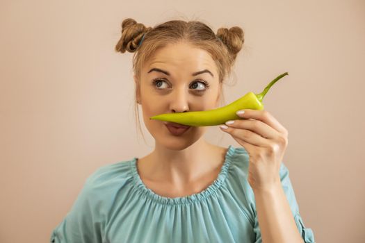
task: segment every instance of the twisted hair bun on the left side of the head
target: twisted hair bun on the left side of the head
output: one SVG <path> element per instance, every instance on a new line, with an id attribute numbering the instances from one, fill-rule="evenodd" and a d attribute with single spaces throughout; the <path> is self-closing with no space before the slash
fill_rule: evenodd
<path id="1" fill-rule="evenodd" d="M 136 22 L 136 20 L 128 18 L 122 22 L 122 36 L 115 45 L 115 51 L 124 53 L 125 51 L 135 52 L 143 34 L 151 30 L 151 27 L 146 27 L 144 24 Z"/>

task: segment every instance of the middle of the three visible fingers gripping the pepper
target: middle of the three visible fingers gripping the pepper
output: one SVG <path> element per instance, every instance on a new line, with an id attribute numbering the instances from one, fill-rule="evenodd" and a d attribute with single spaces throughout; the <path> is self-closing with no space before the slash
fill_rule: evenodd
<path id="1" fill-rule="evenodd" d="M 226 125 L 232 128 L 250 130 L 254 133 L 257 133 L 258 135 L 261 135 L 261 137 L 268 139 L 275 139 L 275 137 L 279 136 L 279 132 L 274 128 L 268 126 L 268 124 L 263 123 L 262 121 L 255 119 L 238 119 L 234 121 L 227 121 Z"/>

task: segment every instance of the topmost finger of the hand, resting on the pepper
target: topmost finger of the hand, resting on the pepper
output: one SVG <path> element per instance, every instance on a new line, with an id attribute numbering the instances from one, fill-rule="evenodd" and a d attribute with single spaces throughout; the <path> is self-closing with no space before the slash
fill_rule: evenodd
<path id="1" fill-rule="evenodd" d="M 251 110 L 251 109 L 244 109 L 244 111 L 245 112 L 243 114 L 237 114 L 237 115 L 244 119 L 252 118 L 262 121 L 263 123 L 268 124 L 268 126 L 274 128 L 279 133 L 282 134 L 287 133 L 286 128 L 284 128 L 284 126 L 282 126 L 282 124 L 280 124 L 279 121 L 277 121 L 277 119 L 270 114 L 270 112 L 266 110 Z"/>

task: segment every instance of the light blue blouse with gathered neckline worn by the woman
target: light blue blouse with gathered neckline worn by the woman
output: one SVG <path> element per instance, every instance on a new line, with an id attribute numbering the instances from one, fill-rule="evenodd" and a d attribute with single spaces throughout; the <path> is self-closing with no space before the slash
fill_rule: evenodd
<path id="1" fill-rule="evenodd" d="M 145 186 L 137 171 L 138 158 L 100 167 L 88 177 L 50 242 L 261 242 L 247 180 L 248 158 L 243 147 L 230 145 L 216 181 L 202 192 L 177 198 Z M 314 242 L 283 163 L 279 175 L 300 235 Z"/>

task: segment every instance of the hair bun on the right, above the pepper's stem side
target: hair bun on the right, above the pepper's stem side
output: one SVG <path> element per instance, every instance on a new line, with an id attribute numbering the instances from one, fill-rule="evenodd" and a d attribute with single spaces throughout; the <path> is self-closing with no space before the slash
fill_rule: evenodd
<path id="1" fill-rule="evenodd" d="M 217 37 L 227 46 L 229 53 L 234 58 L 239 51 L 241 51 L 243 42 L 245 42 L 242 28 L 233 26 L 232 28 L 218 28 Z"/>

